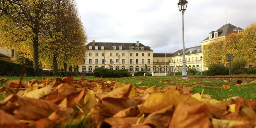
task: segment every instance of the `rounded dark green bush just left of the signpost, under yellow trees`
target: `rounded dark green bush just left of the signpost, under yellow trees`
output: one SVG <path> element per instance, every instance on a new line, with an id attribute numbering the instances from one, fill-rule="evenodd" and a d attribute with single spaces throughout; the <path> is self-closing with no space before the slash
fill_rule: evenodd
<path id="1" fill-rule="evenodd" d="M 229 70 L 228 68 L 221 66 L 221 65 L 212 65 L 206 71 L 206 76 L 216 76 L 216 75 L 228 75 Z"/>

